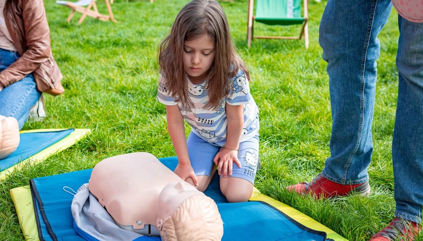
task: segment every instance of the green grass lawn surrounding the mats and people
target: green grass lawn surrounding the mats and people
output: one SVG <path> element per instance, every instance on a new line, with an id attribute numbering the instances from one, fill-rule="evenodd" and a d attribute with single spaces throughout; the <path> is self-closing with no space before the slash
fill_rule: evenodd
<path id="1" fill-rule="evenodd" d="M 98 1 L 100 12 L 105 5 Z M 44 95 L 47 118 L 24 130 L 89 128 L 92 133 L 72 148 L 38 165 L 27 165 L 0 183 L 0 239 L 23 240 L 11 188 L 29 179 L 83 170 L 119 154 L 150 152 L 174 156 L 164 105 L 156 100 L 157 49 L 188 1 L 115 1 L 118 23 L 87 17 L 80 26 L 66 23 L 70 10 L 46 0 L 52 50 L 64 75 L 66 92 Z M 373 124 L 374 155 L 369 167 L 372 194 L 314 201 L 284 187 L 310 181 L 329 156 L 331 114 L 326 63 L 318 44 L 325 2 L 310 2 L 310 48 L 296 40 L 253 40 L 247 49 L 247 0 L 221 2 L 239 55 L 251 72 L 251 92 L 260 109 L 260 158 L 256 187 L 304 212 L 349 240 L 368 240 L 393 218 L 391 139 L 397 94 L 395 12 L 380 34 L 381 56 Z M 256 24 L 259 26 L 259 24 Z M 285 31 L 261 26 L 256 34 Z M 292 30 L 291 32 L 294 32 Z M 298 31 L 299 33 L 299 31 Z M 297 34 L 297 29 L 295 30 Z M 422 240 L 421 238 L 419 240 Z"/>

